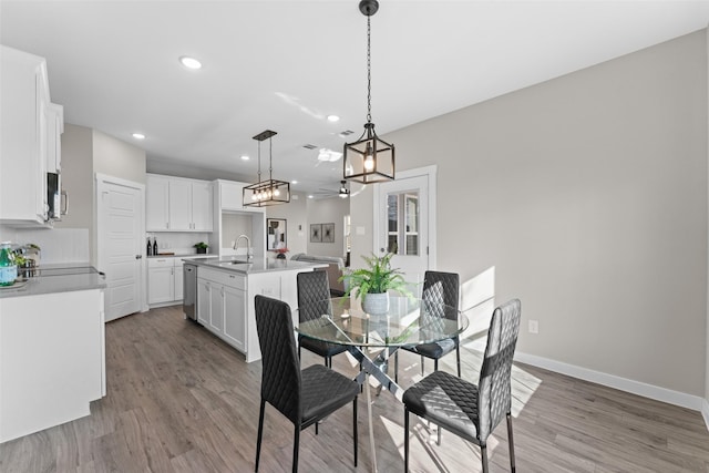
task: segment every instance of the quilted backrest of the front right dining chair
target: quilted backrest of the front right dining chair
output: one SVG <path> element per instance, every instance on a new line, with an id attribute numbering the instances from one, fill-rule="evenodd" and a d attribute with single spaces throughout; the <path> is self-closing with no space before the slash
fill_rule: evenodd
<path id="1" fill-rule="evenodd" d="M 477 384 L 477 439 L 481 441 L 487 439 L 512 405 L 512 358 L 517 345 L 521 313 L 520 299 L 512 299 L 492 315 Z"/>

